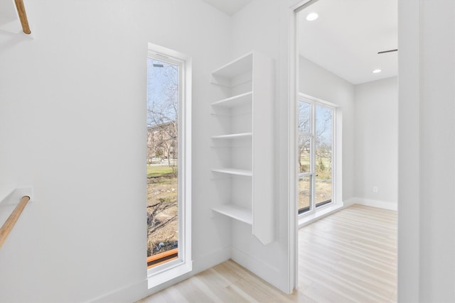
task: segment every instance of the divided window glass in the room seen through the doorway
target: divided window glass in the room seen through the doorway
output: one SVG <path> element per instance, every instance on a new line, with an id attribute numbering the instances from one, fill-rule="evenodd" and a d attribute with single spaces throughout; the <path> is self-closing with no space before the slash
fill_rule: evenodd
<path id="1" fill-rule="evenodd" d="M 335 109 L 310 99 L 298 104 L 299 214 L 332 204 Z"/>

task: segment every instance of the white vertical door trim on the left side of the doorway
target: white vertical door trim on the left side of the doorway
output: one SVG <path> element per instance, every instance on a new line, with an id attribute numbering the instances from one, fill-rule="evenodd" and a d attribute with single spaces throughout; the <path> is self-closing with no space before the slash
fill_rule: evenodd
<path id="1" fill-rule="evenodd" d="M 300 6 L 311 0 L 287 0 L 280 6 L 279 18 L 279 100 L 277 103 L 277 115 L 279 121 L 277 138 L 279 138 L 279 201 L 287 202 L 287 260 L 283 262 L 287 266 L 287 281 L 282 285 L 287 285 L 283 290 L 291 294 L 298 285 L 298 214 L 296 211 L 296 188 L 295 176 L 296 166 L 296 142 L 295 130 L 293 126 L 296 122 L 296 98 L 298 92 L 298 72 L 297 72 L 297 45 L 296 45 L 296 12 Z"/>

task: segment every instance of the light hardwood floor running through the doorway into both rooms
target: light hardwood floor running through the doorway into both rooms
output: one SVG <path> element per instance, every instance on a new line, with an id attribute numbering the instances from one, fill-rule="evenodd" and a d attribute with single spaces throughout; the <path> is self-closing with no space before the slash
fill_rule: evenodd
<path id="1" fill-rule="evenodd" d="M 299 288 L 229 260 L 139 302 L 396 302 L 397 212 L 353 205 L 299 230 Z"/>

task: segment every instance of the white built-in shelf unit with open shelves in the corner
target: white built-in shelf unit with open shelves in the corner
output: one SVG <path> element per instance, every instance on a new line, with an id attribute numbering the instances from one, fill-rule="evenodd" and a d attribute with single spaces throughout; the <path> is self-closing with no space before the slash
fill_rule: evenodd
<path id="1" fill-rule="evenodd" d="M 213 211 L 250 224 L 263 244 L 274 240 L 274 62 L 249 53 L 212 72 L 210 82 L 226 96 L 214 100 L 213 182 L 230 197 Z M 223 165 L 220 165 L 222 163 Z"/>

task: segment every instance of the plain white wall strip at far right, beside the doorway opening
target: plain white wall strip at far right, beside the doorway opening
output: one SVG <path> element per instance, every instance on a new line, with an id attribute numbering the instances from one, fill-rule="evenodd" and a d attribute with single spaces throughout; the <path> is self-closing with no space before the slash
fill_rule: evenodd
<path id="1" fill-rule="evenodd" d="M 455 2 L 399 6 L 398 301 L 455 301 Z"/>

